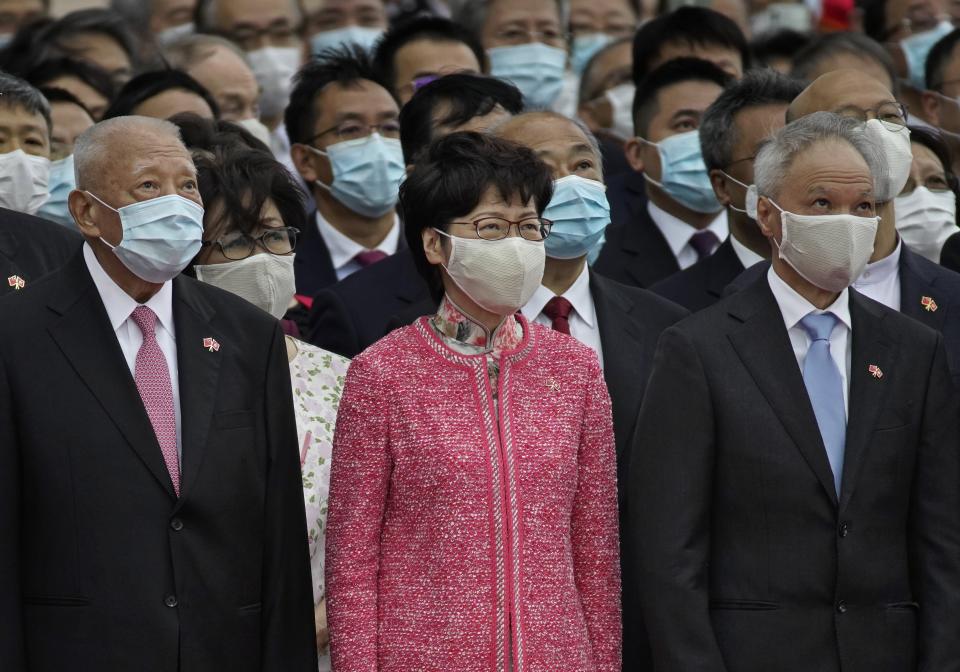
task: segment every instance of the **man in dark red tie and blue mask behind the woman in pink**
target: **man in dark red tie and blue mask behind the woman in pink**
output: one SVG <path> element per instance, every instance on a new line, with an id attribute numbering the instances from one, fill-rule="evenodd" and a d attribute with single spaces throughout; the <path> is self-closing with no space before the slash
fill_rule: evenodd
<path id="1" fill-rule="evenodd" d="M 543 283 L 522 312 L 531 322 L 570 334 L 597 353 L 613 404 L 618 493 L 624 511 L 625 458 L 657 339 L 687 312 L 644 289 L 590 272 L 587 258 L 602 241 L 609 209 L 603 197 L 600 148 L 582 122 L 554 112 L 528 112 L 494 132 L 530 147 L 553 170 L 554 197 L 543 214 L 553 218 L 550 242 L 545 243 Z M 591 205 L 584 207 L 588 202 Z M 622 552 L 623 562 L 630 557 Z M 623 624 L 623 669 L 648 669 L 650 653 L 636 586 L 630 582 L 623 583 Z"/>

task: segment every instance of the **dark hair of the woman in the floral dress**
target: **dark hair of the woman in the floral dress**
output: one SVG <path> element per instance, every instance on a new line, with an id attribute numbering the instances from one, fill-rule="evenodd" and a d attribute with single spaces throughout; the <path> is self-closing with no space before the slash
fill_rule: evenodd
<path id="1" fill-rule="evenodd" d="M 194 154 L 197 184 L 206 212 L 208 239 L 228 230 L 248 234 L 260 227 L 263 205 L 273 201 L 284 226 L 306 226 L 304 195 L 290 172 L 268 153 L 244 147 Z M 196 259 L 194 259 L 196 263 Z"/>

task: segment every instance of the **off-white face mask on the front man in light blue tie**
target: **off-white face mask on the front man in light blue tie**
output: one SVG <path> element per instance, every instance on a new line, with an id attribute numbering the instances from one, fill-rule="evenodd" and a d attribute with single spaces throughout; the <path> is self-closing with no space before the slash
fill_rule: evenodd
<path id="1" fill-rule="evenodd" d="M 770 203 L 780 211 L 780 258 L 802 278 L 820 289 L 842 292 L 860 277 L 873 254 L 879 217 L 798 215 Z"/>

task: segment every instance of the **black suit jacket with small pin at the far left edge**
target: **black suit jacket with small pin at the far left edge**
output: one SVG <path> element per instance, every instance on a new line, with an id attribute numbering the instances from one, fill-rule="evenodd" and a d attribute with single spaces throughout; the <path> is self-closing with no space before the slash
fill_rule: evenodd
<path id="1" fill-rule="evenodd" d="M 60 268 L 81 242 L 80 234 L 65 226 L 0 208 L 0 296 Z"/>

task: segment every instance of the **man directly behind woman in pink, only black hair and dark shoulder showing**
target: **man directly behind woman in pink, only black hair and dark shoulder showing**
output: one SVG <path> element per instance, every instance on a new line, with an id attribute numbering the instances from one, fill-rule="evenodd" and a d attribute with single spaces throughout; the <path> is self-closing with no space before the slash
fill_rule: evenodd
<path id="1" fill-rule="evenodd" d="M 455 131 L 486 130 L 523 109 L 512 84 L 457 73 L 421 87 L 400 112 L 400 143 L 407 166 L 435 138 Z M 299 254 L 299 252 L 298 252 Z M 413 258 L 401 249 L 389 259 L 320 290 L 310 309 L 308 340 L 353 357 L 383 337 L 391 320 L 410 321 L 436 310 Z"/>

